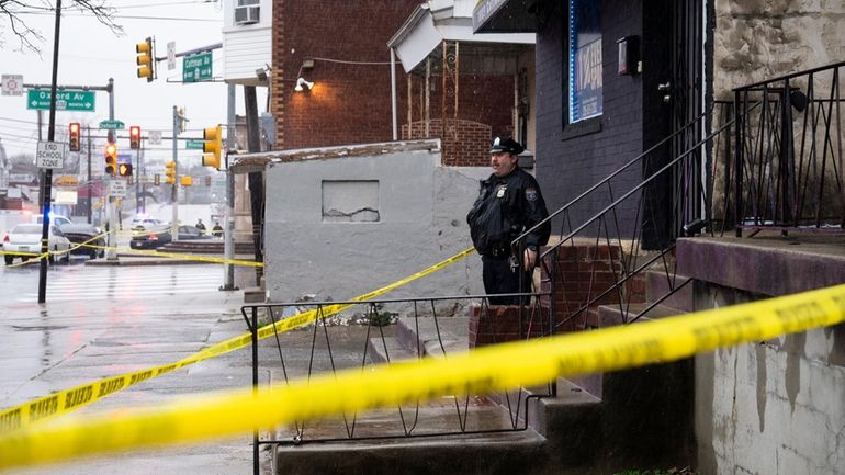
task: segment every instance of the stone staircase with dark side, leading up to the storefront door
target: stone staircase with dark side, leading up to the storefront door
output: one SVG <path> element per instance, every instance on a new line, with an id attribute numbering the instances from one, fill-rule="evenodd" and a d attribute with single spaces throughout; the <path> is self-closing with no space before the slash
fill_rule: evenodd
<path id="1" fill-rule="evenodd" d="M 649 299 L 669 289 L 665 274 L 646 272 Z M 683 282 L 678 279 L 677 282 Z M 632 304 L 629 319 L 646 304 Z M 691 309 L 691 285 L 665 299 L 646 318 Z M 598 308 L 598 321 L 621 321 L 619 306 Z M 393 336 L 373 337 L 368 358 L 396 362 L 444 358 L 467 351 L 474 338 L 470 317 L 399 318 Z M 378 335 L 378 332 L 376 332 Z M 327 440 L 273 449 L 278 474 L 611 474 L 630 468 L 689 465 L 695 459 L 691 361 L 556 381 L 550 387 L 471 398 L 465 406 L 469 433 L 457 434 L 455 402 L 424 405 L 414 434 L 390 439 Z M 441 402 L 442 403 L 442 402 Z M 463 403 L 461 403 L 463 404 Z M 510 410 L 508 410 L 508 404 Z M 514 409 L 517 409 L 516 411 Z M 395 410 L 394 410 L 395 411 Z M 395 418 L 394 418 L 395 419 Z M 358 434 L 390 432 L 384 410 L 356 417 Z M 503 426 L 504 421 L 504 426 Z M 337 422 L 337 421 L 335 421 Z M 510 423 L 510 426 L 509 426 Z M 392 426 L 393 425 L 393 426 Z M 491 428 L 517 430 L 482 433 Z M 315 430 L 312 425 L 311 431 Z M 318 430 L 317 430 L 318 431 Z M 475 431 L 475 432 L 473 432 Z M 448 436 L 437 433 L 449 432 Z M 342 437 L 340 438 L 342 439 Z M 282 439 L 280 439 L 282 440 Z"/>

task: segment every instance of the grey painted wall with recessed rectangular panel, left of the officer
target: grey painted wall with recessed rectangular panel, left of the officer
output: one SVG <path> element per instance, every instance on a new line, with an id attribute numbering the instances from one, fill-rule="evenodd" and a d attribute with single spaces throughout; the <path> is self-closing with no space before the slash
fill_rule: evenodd
<path id="1" fill-rule="evenodd" d="M 364 155 L 273 163 L 267 190 L 266 279 L 268 299 L 293 302 L 305 294 L 346 301 L 424 270 L 472 246 L 466 213 L 485 169 L 440 166 L 430 148 L 403 151 L 398 144 L 372 144 Z M 347 150 L 348 148 L 343 148 Z M 390 151 L 383 151 L 390 149 Z M 367 206 L 378 203 L 378 220 L 326 219 L 326 183 L 365 184 Z M 373 183 L 375 188 L 373 188 Z M 353 195 L 348 196 L 350 200 Z M 349 210 L 347 210 L 349 211 Z M 483 293 L 481 259 L 472 255 L 417 280 L 384 298 Z M 357 310 L 356 310 L 357 312 Z"/>

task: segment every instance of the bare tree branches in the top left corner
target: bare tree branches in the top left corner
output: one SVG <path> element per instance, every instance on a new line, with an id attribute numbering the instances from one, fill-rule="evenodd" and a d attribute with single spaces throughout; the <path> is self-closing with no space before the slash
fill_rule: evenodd
<path id="1" fill-rule="evenodd" d="M 30 27 L 25 16 L 30 14 L 55 14 L 55 4 L 47 0 L 0 0 L 0 48 L 7 46 L 9 41 L 7 33 L 11 31 L 12 35 L 20 42 L 16 49 L 41 53 L 44 35 Z M 63 14 L 67 11 L 91 14 L 113 33 L 123 33 L 123 26 L 114 22 L 116 10 L 109 7 L 105 0 L 70 0 L 61 9 Z"/>

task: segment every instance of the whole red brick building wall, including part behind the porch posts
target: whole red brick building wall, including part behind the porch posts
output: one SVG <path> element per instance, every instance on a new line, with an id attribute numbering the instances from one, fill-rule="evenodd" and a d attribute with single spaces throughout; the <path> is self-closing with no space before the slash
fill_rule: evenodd
<path id="1" fill-rule="evenodd" d="M 270 112 L 277 117 L 277 148 L 364 144 L 393 138 L 386 44 L 418 3 L 418 0 L 274 0 Z M 293 89 L 305 58 L 315 59 L 314 68 L 302 75 L 315 82 L 315 87 L 307 92 L 295 92 Z M 407 81 L 408 75 L 397 63 L 401 126 L 408 122 Z M 412 122 L 424 117 L 419 95 L 421 81 L 419 76 L 413 77 Z M 442 118 L 442 78 L 433 76 L 429 86 L 429 117 Z M 486 147 L 491 133 L 512 135 L 512 77 L 461 76 L 458 91 L 459 120 L 485 124 L 491 131 L 488 134 L 473 131 L 466 136 L 467 140 L 481 140 Z M 478 160 L 473 146 L 466 148 L 460 142 L 454 146 L 452 158 L 447 160 L 449 165 L 469 165 Z M 448 146 L 444 148 L 449 149 Z M 487 158 L 481 165 L 486 165 Z"/>

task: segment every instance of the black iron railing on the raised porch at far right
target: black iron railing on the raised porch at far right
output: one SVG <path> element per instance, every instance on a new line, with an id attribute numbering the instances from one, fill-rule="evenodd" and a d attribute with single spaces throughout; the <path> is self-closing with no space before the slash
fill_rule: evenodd
<path id="1" fill-rule="evenodd" d="M 734 89 L 737 236 L 743 228 L 842 231 L 843 68 L 837 63 Z"/>

